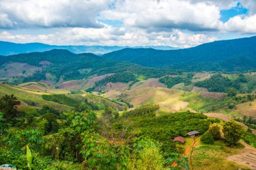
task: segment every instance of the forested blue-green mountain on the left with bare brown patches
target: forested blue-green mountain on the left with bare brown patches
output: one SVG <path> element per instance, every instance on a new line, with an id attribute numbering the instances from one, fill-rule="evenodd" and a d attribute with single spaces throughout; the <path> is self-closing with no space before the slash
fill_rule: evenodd
<path id="1" fill-rule="evenodd" d="M 47 52 L 30 52 L 0 57 L 0 78 L 9 79 L 9 83 L 15 85 L 43 81 L 47 85 L 55 87 L 65 81 L 81 79 L 88 79 L 88 82 L 83 82 L 90 85 L 92 83 L 89 79 L 114 73 L 119 73 L 112 77 L 115 81 L 113 83 L 116 83 L 120 82 L 119 79 L 125 75 L 133 75 L 131 81 L 137 81 L 136 79 L 158 78 L 175 74 L 176 71 L 109 60 L 92 53 L 74 54 L 69 50 L 55 49 Z"/>

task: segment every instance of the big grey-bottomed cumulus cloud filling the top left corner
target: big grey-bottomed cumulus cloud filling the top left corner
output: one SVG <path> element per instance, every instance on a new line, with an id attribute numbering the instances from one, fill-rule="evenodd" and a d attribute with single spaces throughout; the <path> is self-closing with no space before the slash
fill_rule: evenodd
<path id="1" fill-rule="evenodd" d="M 0 28 L 100 28 L 96 17 L 108 0 L 1 0 Z"/>

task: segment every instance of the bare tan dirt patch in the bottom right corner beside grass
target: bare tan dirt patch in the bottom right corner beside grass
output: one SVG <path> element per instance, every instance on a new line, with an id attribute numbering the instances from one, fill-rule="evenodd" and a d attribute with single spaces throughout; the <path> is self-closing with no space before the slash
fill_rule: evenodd
<path id="1" fill-rule="evenodd" d="M 242 141 L 240 143 L 243 144 L 245 148 L 239 151 L 238 155 L 232 155 L 226 159 L 251 169 L 256 169 L 256 148 L 253 148 L 249 144 Z"/>

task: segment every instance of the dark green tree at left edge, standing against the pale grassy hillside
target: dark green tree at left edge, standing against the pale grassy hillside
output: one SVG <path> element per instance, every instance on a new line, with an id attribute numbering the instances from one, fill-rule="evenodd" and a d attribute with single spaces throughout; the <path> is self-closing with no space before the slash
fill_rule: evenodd
<path id="1" fill-rule="evenodd" d="M 10 121 L 18 114 L 17 106 L 20 101 L 14 95 L 4 95 L 0 98 L 0 112 L 3 113 L 3 118 Z"/>

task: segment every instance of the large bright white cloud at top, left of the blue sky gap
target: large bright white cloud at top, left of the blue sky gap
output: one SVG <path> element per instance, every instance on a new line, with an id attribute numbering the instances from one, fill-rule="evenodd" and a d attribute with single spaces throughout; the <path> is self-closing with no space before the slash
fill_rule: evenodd
<path id="1" fill-rule="evenodd" d="M 121 19 L 125 26 L 156 30 L 180 28 L 210 31 L 218 30 L 222 24 L 220 9 L 216 5 L 184 0 L 117 1 L 114 9 L 102 11 L 100 16 Z"/>

